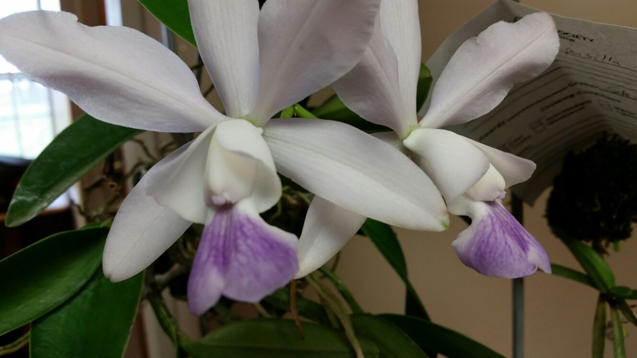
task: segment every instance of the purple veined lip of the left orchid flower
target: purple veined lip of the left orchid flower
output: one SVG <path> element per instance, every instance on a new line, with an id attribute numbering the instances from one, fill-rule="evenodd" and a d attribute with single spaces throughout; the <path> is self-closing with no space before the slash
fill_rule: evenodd
<path id="1" fill-rule="evenodd" d="M 188 304 L 203 314 L 226 296 L 258 302 L 298 270 L 297 238 L 269 226 L 254 208 L 224 206 L 204 227 L 188 280 Z"/>

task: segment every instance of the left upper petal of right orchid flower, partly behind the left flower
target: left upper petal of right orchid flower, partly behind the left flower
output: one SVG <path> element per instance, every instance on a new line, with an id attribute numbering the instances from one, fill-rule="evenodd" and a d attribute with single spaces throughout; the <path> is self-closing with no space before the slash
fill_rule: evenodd
<path id="1" fill-rule="evenodd" d="M 332 87 L 350 110 L 369 122 L 390 127 L 401 135 L 417 124 L 415 110 L 404 110 L 396 55 L 383 38 L 380 22 L 361 61 Z"/>

